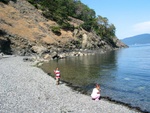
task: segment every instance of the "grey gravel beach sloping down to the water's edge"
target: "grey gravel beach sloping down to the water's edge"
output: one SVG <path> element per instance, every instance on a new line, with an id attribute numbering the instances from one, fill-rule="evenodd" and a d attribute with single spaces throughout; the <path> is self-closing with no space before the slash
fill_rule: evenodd
<path id="1" fill-rule="evenodd" d="M 0 113 L 139 113 L 73 91 L 23 57 L 0 59 Z"/>

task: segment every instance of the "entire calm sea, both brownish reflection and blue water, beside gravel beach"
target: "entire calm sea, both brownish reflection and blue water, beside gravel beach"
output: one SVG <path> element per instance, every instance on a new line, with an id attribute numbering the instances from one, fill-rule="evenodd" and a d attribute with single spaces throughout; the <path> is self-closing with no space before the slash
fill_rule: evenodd
<path id="1" fill-rule="evenodd" d="M 59 67 L 62 79 L 91 93 L 101 85 L 101 95 L 150 112 L 150 44 L 131 46 L 106 54 L 50 61 L 44 71 Z"/>

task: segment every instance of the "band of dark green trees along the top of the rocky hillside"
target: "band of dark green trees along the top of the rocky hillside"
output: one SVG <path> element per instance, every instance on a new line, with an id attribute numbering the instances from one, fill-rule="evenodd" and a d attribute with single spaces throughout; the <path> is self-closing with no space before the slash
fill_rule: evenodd
<path id="1" fill-rule="evenodd" d="M 86 31 L 95 31 L 103 39 L 115 37 L 115 26 L 109 24 L 106 17 L 97 16 L 93 9 L 81 3 L 80 0 L 28 0 L 31 4 L 43 11 L 43 15 L 56 21 L 64 30 L 74 30 L 69 24 L 69 16 L 84 21 L 80 25 Z M 56 27 L 57 28 L 57 27 Z M 59 29 L 53 28 L 53 32 L 59 33 Z"/>

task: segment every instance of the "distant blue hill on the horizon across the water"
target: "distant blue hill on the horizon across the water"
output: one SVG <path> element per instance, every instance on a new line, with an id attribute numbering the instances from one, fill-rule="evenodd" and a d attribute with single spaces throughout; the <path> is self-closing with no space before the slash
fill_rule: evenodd
<path id="1" fill-rule="evenodd" d="M 122 39 L 121 41 L 127 45 L 147 44 L 150 43 L 150 34 L 136 35 L 133 37 Z"/>

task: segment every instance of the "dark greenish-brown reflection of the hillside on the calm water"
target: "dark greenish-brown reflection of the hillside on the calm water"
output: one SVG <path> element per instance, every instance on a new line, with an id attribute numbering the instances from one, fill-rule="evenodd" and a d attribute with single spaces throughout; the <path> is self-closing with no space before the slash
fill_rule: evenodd
<path id="1" fill-rule="evenodd" d="M 106 54 L 70 57 L 59 61 L 50 61 L 45 63 L 42 68 L 47 73 L 54 75 L 53 70 L 58 67 L 63 80 L 86 87 L 89 84 L 99 82 L 101 76 L 107 76 L 105 73 L 108 70 L 115 69 L 115 57 L 114 51 Z M 112 79 L 112 77 L 107 77 L 107 79 Z M 107 80 L 103 82 L 107 82 Z"/>

